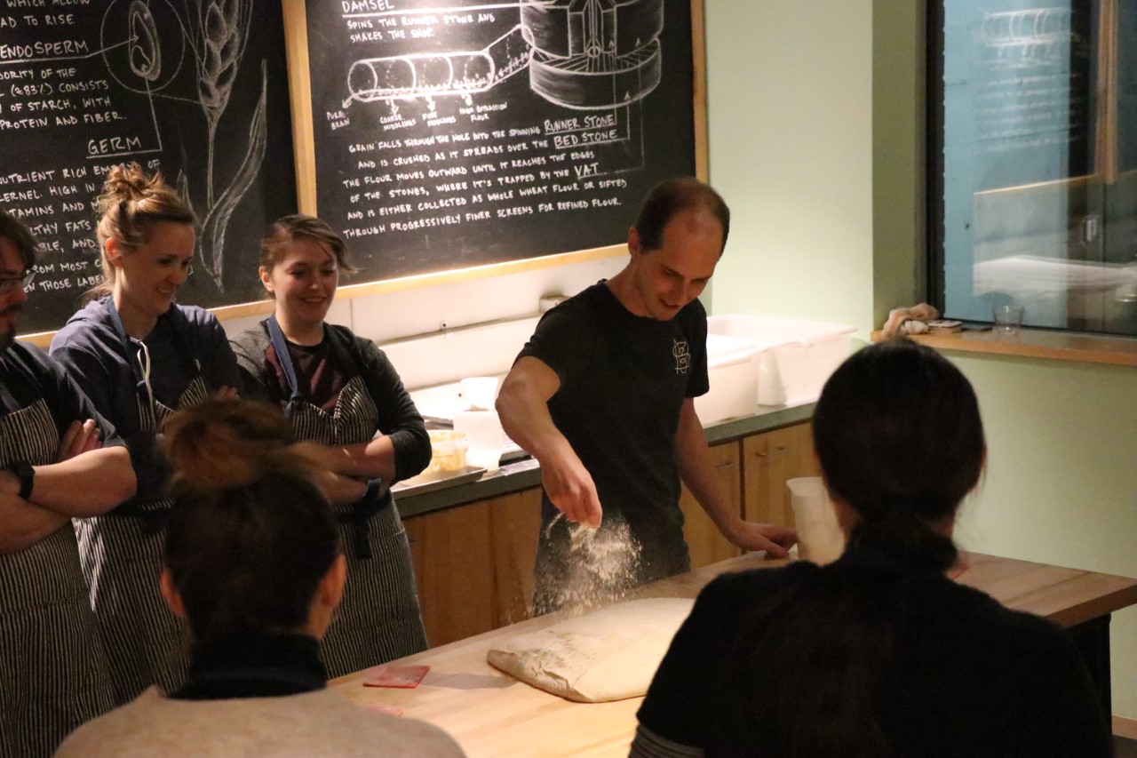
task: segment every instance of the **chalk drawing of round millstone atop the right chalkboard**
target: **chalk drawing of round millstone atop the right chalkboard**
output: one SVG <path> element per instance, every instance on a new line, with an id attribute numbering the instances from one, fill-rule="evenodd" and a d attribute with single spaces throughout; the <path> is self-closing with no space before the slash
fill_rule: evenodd
<path id="1" fill-rule="evenodd" d="M 546 100 L 599 110 L 659 84 L 663 0 L 525 0 L 529 82 Z"/>

